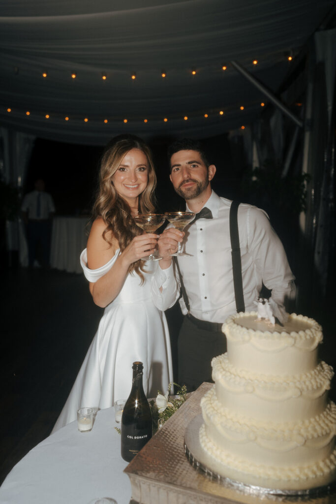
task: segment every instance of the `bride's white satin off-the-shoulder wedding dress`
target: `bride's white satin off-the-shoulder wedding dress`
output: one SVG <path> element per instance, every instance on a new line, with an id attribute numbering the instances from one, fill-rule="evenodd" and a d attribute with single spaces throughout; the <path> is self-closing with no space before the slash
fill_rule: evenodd
<path id="1" fill-rule="evenodd" d="M 86 249 L 81 265 L 86 278 L 96 282 L 119 255 L 97 270 L 87 267 Z M 77 419 L 81 407 L 109 408 L 127 399 L 132 385 L 132 363 L 144 363 L 144 391 L 156 397 L 173 381 L 170 340 L 165 314 L 153 303 L 151 282 L 157 261 L 146 262 L 145 282 L 137 273 L 127 275 L 117 297 L 104 310 L 98 331 L 89 347 L 75 384 L 53 429 Z M 151 269 L 151 271 L 150 271 Z M 78 335 L 79 344 L 81 335 Z"/>

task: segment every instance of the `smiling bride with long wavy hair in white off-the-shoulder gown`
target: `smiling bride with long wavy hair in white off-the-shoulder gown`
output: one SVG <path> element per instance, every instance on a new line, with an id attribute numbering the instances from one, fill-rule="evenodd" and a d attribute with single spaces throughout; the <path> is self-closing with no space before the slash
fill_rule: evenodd
<path id="1" fill-rule="evenodd" d="M 134 361 L 144 363 L 147 397 L 173 380 L 166 319 L 151 294 L 157 261 L 141 261 L 154 251 L 158 235 L 142 234 L 133 219 L 154 211 L 155 186 L 148 146 L 134 136 L 112 139 L 101 160 L 93 223 L 81 254 L 93 300 L 105 310 L 52 432 L 75 420 L 82 406 L 102 409 L 127 399 Z"/>

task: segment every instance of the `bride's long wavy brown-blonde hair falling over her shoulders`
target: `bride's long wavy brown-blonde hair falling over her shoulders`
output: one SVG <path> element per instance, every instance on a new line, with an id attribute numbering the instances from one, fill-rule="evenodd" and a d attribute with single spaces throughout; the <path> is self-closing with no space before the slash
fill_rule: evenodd
<path id="1" fill-rule="evenodd" d="M 118 194 L 112 182 L 113 174 L 131 149 L 141 150 L 148 160 L 148 183 L 145 191 L 139 196 L 138 211 L 150 213 L 155 210 L 156 174 L 152 154 L 145 142 L 135 135 L 120 135 L 113 138 L 105 147 L 100 163 L 97 197 L 92 209 L 92 221 L 102 217 L 106 224 L 103 232 L 104 240 L 112 245 L 112 241 L 106 237 L 111 231 L 112 236 L 118 241 L 121 252 L 135 236 L 143 233 L 131 216 L 128 203 Z M 144 271 L 143 266 L 144 262 L 139 260 L 132 263 L 128 271 L 135 271 L 144 280 L 141 273 Z"/>

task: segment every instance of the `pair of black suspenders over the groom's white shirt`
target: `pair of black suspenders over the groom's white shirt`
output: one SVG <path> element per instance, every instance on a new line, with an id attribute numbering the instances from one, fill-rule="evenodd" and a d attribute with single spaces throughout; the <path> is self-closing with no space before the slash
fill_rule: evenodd
<path id="1" fill-rule="evenodd" d="M 241 257 L 239 246 L 239 232 L 238 232 L 238 201 L 233 201 L 230 207 L 230 239 L 231 239 L 231 257 L 233 269 L 233 286 L 236 300 L 237 313 L 245 311 L 244 294 L 243 294 L 243 279 L 241 275 Z M 180 278 L 181 293 L 186 309 L 190 310 L 189 299 L 183 284 L 183 279 L 178 265 L 177 258 L 175 260 L 178 276 Z"/>

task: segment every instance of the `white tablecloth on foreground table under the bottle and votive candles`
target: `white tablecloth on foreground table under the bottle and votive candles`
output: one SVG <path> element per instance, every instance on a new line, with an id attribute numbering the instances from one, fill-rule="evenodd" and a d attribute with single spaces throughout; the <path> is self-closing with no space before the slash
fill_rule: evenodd
<path id="1" fill-rule="evenodd" d="M 116 425 L 114 408 L 108 408 L 98 411 L 91 432 L 79 432 L 76 421 L 44 439 L 5 479 L 1 504 L 88 504 L 95 497 L 128 504 L 131 487 Z"/>

